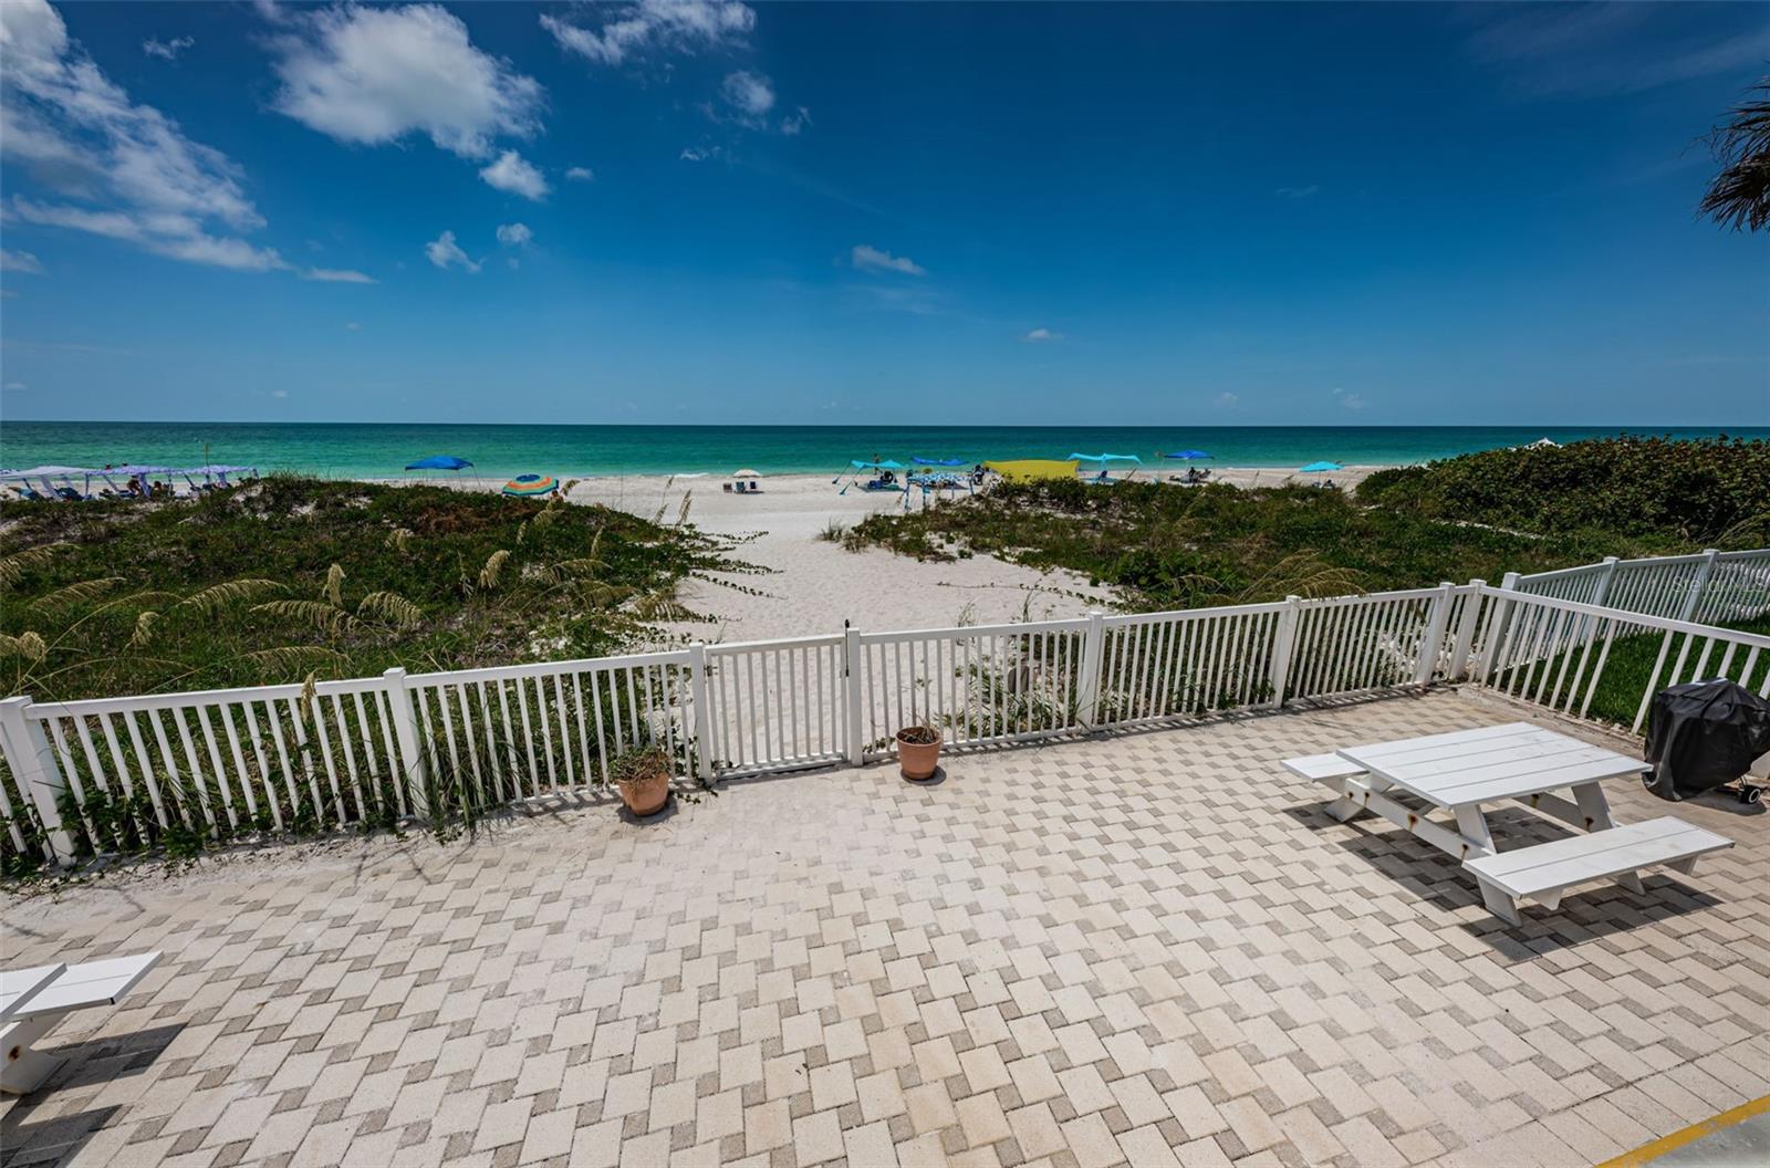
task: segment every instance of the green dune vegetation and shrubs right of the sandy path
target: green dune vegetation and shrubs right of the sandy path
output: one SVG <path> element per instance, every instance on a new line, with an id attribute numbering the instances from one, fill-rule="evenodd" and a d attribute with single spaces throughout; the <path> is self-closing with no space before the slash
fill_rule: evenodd
<path id="1" fill-rule="evenodd" d="M 1770 536 L 1766 481 L 1770 442 L 1575 442 L 1388 471 L 1358 494 L 1000 483 L 873 515 L 844 543 L 989 552 L 1104 582 L 1127 609 L 1186 609 L 1756 547 Z"/>

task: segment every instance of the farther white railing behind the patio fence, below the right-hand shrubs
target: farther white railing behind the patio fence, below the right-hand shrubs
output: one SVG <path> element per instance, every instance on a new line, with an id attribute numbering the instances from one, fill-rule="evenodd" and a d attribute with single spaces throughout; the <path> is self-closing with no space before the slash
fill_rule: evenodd
<path id="1" fill-rule="evenodd" d="M 1770 612 L 1770 549 L 1697 556 L 1657 556 L 1508 575 L 1506 586 L 1531 596 L 1680 621 L 1754 619 Z"/>

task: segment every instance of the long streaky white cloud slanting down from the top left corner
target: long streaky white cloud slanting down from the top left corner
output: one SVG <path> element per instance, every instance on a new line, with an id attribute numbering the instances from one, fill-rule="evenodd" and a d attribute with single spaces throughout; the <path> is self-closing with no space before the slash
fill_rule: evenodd
<path id="1" fill-rule="evenodd" d="M 0 4 L 0 150 L 76 200 L 14 198 L 27 223 L 92 232 L 158 255 L 241 271 L 287 267 L 237 235 L 264 227 L 241 168 L 135 104 L 69 37 L 46 0 Z M 219 232 L 219 234 L 218 234 Z"/>

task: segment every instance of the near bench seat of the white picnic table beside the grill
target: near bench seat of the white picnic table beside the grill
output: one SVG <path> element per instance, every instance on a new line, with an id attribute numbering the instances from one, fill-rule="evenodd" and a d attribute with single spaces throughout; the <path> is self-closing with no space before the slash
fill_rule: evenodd
<path id="1" fill-rule="evenodd" d="M 1566 888 L 1611 876 L 1625 876 L 1625 883 L 1639 892 L 1641 869 L 1667 864 L 1673 871 L 1690 872 L 1697 857 L 1731 846 L 1733 841 L 1726 835 L 1674 816 L 1660 816 L 1464 860 L 1464 867 L 1481 881 L 1481 901 L 1496 917 L 1522 924 L 1519 897 L 1533 897 L 1554 910 Z"/>

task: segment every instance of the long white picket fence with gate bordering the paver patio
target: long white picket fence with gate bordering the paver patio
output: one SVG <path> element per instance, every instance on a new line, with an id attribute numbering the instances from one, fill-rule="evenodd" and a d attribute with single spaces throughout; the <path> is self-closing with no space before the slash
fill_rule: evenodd
<path id="1" fill-rule="evenodd" d="M 1728 595 L 1742 603 L 1747 593 Z M 936 726 L 965 750 L 1466 678 L 1588 717 L 1595 699 L 1614 704 L 1605 678 L 1620 683 L 1614 662 L 1641 658 L 1643 637 L 1660 639 L 1658 664 L 1651 678 L 1643 667 L 1643 678 L 1621 681 L 1637 687 L 1635 727 L 1671 681 L 1728 672 L 1770 690 L 1766 637 L 1471 580 L 457 672 L 389 669 L 310 692 L 23 695 L 0 701 L 0 848 L 69 858 L 476 814 L 600 784 L 635 743 L 666 747 L 680 773 L 712 782 L 889 757 L 896 731 L 912 724 Z"/>

